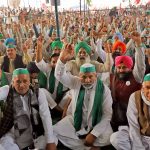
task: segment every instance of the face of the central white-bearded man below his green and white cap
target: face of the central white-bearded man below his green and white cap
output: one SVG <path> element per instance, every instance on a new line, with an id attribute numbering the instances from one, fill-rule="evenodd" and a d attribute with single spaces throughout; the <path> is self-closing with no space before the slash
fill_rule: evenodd
<path id="1" fill-rule="evenodd" d="M 90 87 L 97 80 L 96 72 L 79 73 L 80 81 L 83 86 Z"/>

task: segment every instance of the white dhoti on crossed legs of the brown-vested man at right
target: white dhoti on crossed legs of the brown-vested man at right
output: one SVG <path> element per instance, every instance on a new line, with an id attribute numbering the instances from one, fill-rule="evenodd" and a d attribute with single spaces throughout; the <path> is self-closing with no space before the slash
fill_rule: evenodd
<path id="1" fill-rule="evenodd" d="M 145 147 L 142 150 L 150 150 L 150 137 L 141 135 L 141 141 Z M 119 131 L 111 135 L 110 142 L 117 150 L 133 150 L 128 126 L 120 126 Z"/>

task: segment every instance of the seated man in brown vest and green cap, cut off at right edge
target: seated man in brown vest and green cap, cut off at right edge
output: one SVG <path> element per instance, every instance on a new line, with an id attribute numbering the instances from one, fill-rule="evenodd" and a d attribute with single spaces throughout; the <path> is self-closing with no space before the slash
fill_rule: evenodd
<path id="1" fill-rule="evenodd" d="M 126 126 L 113 135 L 112 143 L 117 150 L 150 149 L 150 74 L 145 75 L 142 88 L 134 92 L 129 99 Z"/>

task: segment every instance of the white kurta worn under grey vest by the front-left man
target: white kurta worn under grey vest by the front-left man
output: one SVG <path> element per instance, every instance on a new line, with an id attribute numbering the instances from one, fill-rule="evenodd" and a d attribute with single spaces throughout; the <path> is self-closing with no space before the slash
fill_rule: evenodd
<path id="1" fill-rule="evenodd" d="M 0 91 L 1 91 L 0 98 L 6 99 L 8 92 L 9 92 L 9 86 L 1 87 Z M 25 96 L 20 96 L 20 98 L 23 102 L 24 110 L 29 110 L 28 97 L 25 95 Z M 35 141 L 35 146 L 37 146 L 37 148 L 43 148 L 46 146 L 46 143 L 54 143 L 56 141 L 56 139 L 53 135 L 52 120 L 51 120 L 46 96 L 45 96 L 43 90 L 41 90 L 41 89 L 39 89 L 38 101 L 39 101 L 39 114 L 40 114 L 42 122 L 43 122 L 45 136 L 39 137 L 40 140 L 37 139 Z M 56 143 L 57 143 L 57 141 L 56 141 Z M 13 146 L 16 147 L 15 140 L 13 139 L 13 131 L 12 130 L 0 139 L 0 146 L 2 146 L 6 150 L 12 150 Z M 10 147 L 11 147 L 11 149 L 10 149 Z M 18 149 L 16 148 L 14 150 L 18 150 Z"/>

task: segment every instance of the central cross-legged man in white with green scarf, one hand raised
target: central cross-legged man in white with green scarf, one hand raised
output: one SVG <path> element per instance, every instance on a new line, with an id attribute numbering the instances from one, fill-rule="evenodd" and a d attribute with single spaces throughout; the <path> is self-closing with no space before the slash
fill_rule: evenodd
<path id="1" fill-rule="evenodd" d="M 96 68 L 90 63 L 80 67 L 79 77 L 66 72 L 65 63 L 72 53 L 71 45 L 66 45 L 56 64 L 55 76 L 72 89 L 72 101 L 70 114 L 54 126 L 54 132 L 71 149 L 98 150 L 110 144 L 111 93 L 97 78 Z"/>

